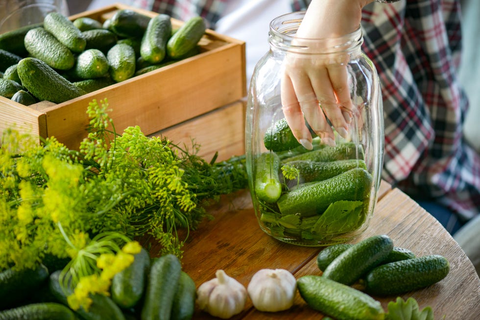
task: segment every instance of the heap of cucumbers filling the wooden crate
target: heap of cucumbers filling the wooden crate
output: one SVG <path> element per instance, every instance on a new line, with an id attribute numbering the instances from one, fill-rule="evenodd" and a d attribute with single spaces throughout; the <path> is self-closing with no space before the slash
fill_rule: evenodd
<path id="1" fill-rule="evenodd" d="M 0 34 L 0 95 L 24 105 L 62 103 L 199 53 L 205 31 L 201 17 L 172 30 L 165 14 L 120 9 L 101 23 L 52 12 Z"/>

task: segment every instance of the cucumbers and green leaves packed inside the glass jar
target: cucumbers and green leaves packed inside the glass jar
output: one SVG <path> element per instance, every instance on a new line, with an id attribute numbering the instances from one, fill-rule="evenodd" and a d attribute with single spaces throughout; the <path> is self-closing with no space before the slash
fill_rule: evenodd
<path id="1" fill-rule="evenodd" d="M 315 137 L 307 150 L 293 137 L 285 118 L 264 135 L 267 152 L 254 159 L 257 211 L 264 229 L 280 239 L 341 242 L 366 221 L 373 178 L 361 145 L 326 146 Z"/>

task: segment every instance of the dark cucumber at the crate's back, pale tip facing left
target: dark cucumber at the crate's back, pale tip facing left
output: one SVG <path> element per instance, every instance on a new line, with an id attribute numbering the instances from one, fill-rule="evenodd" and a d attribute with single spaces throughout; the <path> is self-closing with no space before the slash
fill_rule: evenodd
<path id="1" fill-rule="evenodd" d="M 150 19 L 136 11 L 121 9 L 110 18 L 107 28 L 122 37 L 142 37 Z"/>

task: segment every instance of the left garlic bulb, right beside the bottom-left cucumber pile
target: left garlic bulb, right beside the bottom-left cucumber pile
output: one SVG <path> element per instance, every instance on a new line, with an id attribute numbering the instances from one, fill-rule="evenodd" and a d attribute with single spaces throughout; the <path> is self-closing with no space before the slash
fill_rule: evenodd
<path id="1" fill-rule="evenodd" d="M 247 301 L 247 290 L 234 278 L 217 270 L 216 278 L 202 283 L 197 289 L 198 307 L 214 317 L 228 319 L 240 313 Z"/>

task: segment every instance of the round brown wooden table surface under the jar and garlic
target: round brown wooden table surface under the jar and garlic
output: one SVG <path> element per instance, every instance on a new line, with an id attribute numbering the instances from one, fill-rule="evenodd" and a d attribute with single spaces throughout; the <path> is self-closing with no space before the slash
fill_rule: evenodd
<path id="1" fill-rule="evenodd" d="M 296 278 L 321 274 L 316 256 L 321 247 L 300 247 L 280 242 L 262 231 L 252 206 L 250 193 L 242 190 L 225 197 L 209 210 L 215 217 L 191 232 L 184 246 L 183 270 L 198 287 L 215 277 L 218 269 L 245 287 L 260 269 L 286 269 Z M 422 309 L 430 305 L 436 319 L 479 320 L 480 279 L 465 253 L 432 215 L 405 193 L 382 183 L 370 226 L 358 242 L 375 234 L 387 234 L 394 245 L 410 249 L 417 256 L 441 254 L 450 263 L 450 273 L 431 287 L 403 295 L 414 297 Z M 155 248 L 152 248 L 155 249 Z M 384 310 L 396 297 L 380 298 Z M 250 301 L 232 319 L 321 319 L 297 291 L 292 308 L 277 313 L 257 311 Z M 193 319 L 218 319 L 197 310 Z"/>

